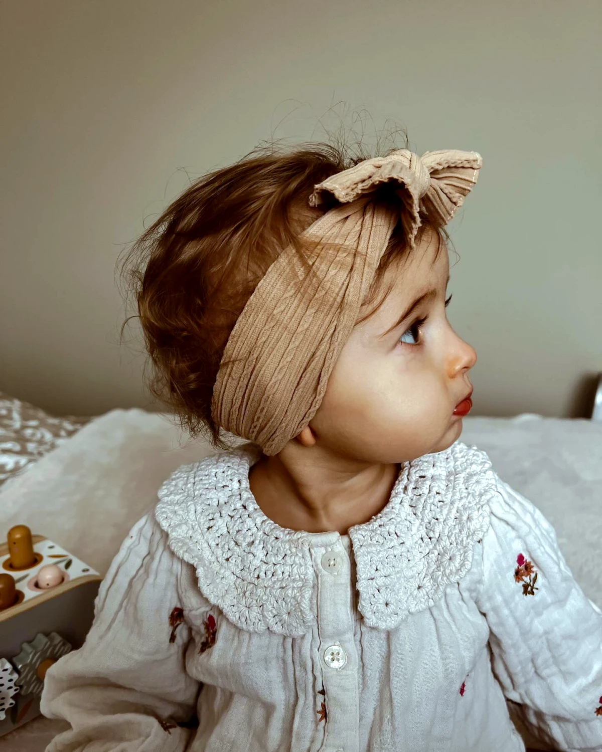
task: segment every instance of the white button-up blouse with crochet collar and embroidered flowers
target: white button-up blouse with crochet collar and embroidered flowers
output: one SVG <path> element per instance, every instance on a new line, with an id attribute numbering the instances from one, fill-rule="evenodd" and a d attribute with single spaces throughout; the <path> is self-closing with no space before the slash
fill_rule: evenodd
<path id="1" fill-rule="evenodd" d="M 41 709 L 47 752 L 602 750 L 602 612 L 545 517 L 456 442 L 348 535 L 278 526 L 243 444 L 183 465 Z M 198 718 L 198 726 L 196 726 Z"/>

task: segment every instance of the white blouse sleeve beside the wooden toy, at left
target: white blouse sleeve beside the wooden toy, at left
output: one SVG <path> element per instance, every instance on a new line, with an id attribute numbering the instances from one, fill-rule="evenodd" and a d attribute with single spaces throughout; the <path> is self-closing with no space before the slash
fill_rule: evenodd
<path id="1" fill-rule="evenodd" d="M 46 752 L 182 752 L 200 684 L 187 675 L 182 562 L 154 515 L 133 526 L 102 581 L 84 645 L 44 680 L 41 711 L 71 729 Z"/>

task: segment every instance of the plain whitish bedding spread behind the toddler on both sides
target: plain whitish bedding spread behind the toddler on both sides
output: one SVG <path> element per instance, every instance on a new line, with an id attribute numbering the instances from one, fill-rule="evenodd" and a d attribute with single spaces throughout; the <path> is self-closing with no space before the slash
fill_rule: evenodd
<path id="1" fill-rule="evenodd" d="M 96 418 L 2 486 L 0 533 L 25 523 L 104 574 L 170 472 L 214 453 L 203 441 L 180 447 L 179 435 L 166 417 L 137 409 Z M 488 452 L 548 517 L 574 578 L 602 608 L 602 423 L 467 417 L 461 441 Z M 0 752 L 42 752 L 63 727 L 39 717 L 0 738 Z"/>

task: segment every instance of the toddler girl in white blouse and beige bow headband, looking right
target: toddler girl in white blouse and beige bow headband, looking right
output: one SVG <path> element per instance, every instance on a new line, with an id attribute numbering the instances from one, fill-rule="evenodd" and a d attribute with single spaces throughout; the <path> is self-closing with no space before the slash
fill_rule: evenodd
<path id="1" fill-rule="evenodd" d="M 602 613 L 458 441 L 445 225 L 481 162 L 251 153 L 143 235 L 151 388 L 217 453 L 165 481 L 47 672 L 48 752 L 518 752 L 511 714 L 602 750 Z"/>

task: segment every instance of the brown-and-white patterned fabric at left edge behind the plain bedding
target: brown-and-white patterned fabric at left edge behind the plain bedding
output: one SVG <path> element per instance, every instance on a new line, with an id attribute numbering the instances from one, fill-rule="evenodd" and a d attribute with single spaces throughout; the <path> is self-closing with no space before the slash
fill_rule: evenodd
<path id="1" fill-rule="evenodd" d="M 0 486 L 55 449 L 90 417 L 52 417 L 20 399 L 0 392 Z"/>

